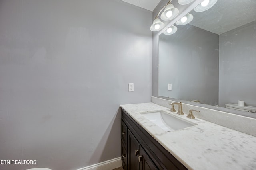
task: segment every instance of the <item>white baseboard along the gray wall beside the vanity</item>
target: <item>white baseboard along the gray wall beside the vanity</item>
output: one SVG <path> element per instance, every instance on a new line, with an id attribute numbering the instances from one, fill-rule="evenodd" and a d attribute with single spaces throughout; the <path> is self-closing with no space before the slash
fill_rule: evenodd
<path id="1" fill-rule="evenodd" d="M 98 164 L 86 166 L 77 170 L 112 170 L 122 166 L 121 157 L 107 160 L 105 162 L 100 162 Z"/>

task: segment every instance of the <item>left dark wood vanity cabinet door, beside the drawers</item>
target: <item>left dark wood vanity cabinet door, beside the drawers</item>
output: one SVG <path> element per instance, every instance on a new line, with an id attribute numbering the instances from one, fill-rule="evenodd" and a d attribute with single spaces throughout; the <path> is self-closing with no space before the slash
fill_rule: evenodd
<path id="1" fill-rule="evenodd" d="M 128 170 L 139 170 L 140 162 L 138 156 L 140 154 L 140 145 L 137 139 L 128 129 Z"/>

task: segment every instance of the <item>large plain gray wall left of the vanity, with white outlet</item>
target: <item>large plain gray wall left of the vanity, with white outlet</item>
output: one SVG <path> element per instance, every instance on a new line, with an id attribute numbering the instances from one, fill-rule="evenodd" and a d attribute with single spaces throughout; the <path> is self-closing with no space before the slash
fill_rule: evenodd
<path id="1" fill-rule="evenodd" d="M 1 0 L 0 160 L 36 165 L 0 169 L 119 157 L 119 105 L 151 101 L 151 24 L 119 0 Z"/>

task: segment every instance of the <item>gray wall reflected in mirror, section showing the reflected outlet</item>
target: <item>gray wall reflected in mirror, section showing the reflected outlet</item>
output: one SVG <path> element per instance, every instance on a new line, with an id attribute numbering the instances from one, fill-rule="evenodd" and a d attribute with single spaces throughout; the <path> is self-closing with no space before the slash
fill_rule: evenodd
<path id="1" fill-rule="evenodd" d="M 189 24 L 177 27 L 173 35 L 159 36 L 158 95 L 218 104 L 219 35 Z"/>

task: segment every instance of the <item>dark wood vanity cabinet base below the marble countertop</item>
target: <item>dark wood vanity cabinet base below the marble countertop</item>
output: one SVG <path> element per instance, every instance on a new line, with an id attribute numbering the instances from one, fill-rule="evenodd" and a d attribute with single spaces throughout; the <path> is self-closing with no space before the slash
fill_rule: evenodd
<path id="1" fill-rule="evenodd" d="M 121 141 L 124 170 L 187 170 L 123 109 Z"/>

